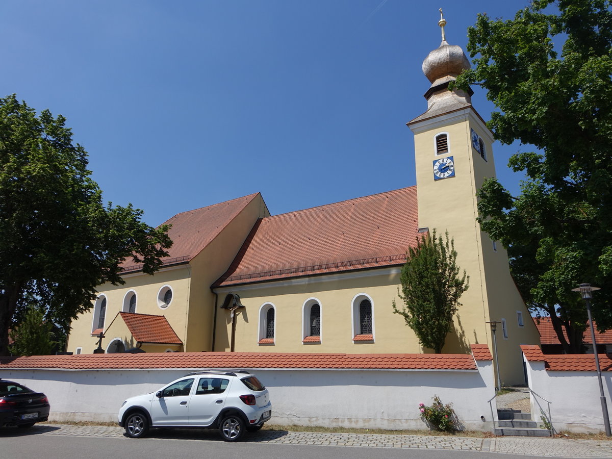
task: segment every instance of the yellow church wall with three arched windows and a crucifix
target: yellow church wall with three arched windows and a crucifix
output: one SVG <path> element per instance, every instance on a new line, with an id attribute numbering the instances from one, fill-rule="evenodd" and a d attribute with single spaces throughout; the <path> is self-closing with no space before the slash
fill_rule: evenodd
<path id="1" fill-rule="evenodd" d="M 245 308 L 236 317 L 236 352 L 289 353 L 420 353 L 419 341 L 405 325 L 402 316 L 394 314 L 391 304 L 397 298 L 398 270 L 370 270 L 367 277 L 312 277 L 307 283 L 287 282 L 260 285 L 257 288 L 229 289 L 238 293 Z M 362 273 L 359 273 L 362 274 Z M 219 294 L 222 302 L 228 289 Z M 375 341 L 353 341 L 352 300 L 357 294 L 371 297 Z M 304 302 L 315 297 L 321 306 L 321 343 L 305 344 L 302 326 Z M 401 302 L 401 300 L 399 300 Z M 275 343 L 258 345 L 259 308 L 275 306 Z M 215 351 L 229 351 L 230 312 L 220 310 L 217 316 Z"/>

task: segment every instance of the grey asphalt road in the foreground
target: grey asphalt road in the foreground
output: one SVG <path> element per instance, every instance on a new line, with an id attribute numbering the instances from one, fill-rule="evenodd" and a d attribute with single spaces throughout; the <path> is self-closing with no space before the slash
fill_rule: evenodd
<path id="1" fill-rule="evenodd" d="M 97 438 L 79 436 L 27 435 L 3 436 L 0 444 L 2 459 L 99 459 L 130 457 L 147 459 L 174 458 L 237 458 L 266 459 L 469 459 L 469 458 L 539 458 L 540 456 L 507 455 L 500 453 L 387 449 L 367 447 L 334 447 L 315 445 L 283 445 L 261 443 L 227 443 L 160 438 Z"/>

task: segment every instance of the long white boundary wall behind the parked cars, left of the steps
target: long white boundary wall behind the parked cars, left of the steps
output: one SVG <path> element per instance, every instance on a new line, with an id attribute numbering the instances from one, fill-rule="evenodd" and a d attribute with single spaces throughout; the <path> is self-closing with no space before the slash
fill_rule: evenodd
<path id="1" fill-rule="evenodd" d="M 477 370 L 250 369 L 270 391 L 273 424 L 383 429 L 427 428 L 419 403 L 452 403 L 463 427 L 491 430 L 491 361 Z M 153 392 L 192 370 L 1 370 L 45 392 L 52 421 L 114 422 L 127 397 Z M 482 416 L 482 417 L 481 417 Z"/>

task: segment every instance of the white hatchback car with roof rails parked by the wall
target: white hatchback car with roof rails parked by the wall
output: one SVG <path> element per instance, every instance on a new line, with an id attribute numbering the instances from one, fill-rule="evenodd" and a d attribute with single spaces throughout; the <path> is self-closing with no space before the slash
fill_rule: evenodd
<path id="1" fill-rule="evenodd" d="M 196 371 L 157 392 L 128 398 L 119 425 L 131 438 L 149 428 L 218 428 L 225 441 L 238 441 L 272 416 L 270 396 L 248 371 Z"/>

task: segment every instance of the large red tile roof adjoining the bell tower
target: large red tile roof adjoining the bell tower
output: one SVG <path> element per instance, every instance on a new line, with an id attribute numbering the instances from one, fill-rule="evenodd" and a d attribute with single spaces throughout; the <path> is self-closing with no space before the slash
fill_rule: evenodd
<path id="1" fill-rule="evenodd" d="M 403 264 L 417 231 L 416 187 L 263 218 L 215 286 Z"/>

